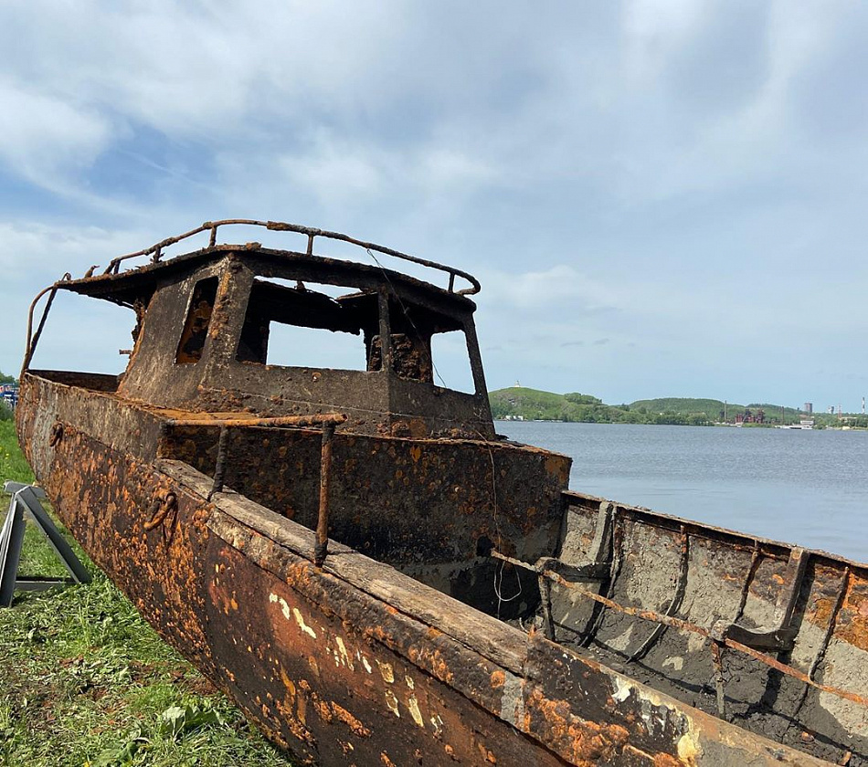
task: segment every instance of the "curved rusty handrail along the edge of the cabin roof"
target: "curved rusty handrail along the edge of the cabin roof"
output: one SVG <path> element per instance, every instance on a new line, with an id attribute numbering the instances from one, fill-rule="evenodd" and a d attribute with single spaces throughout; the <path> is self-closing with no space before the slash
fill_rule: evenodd
<path id="1" fill-rule="evenodd" d="M 330 232 L 325 229 L 315 229 L 311 226 L 299 226 L 298 224 L 284 224 L 281 221 L 257 221 L 249 218 L 225 218 L 220 221 L 206 221 L 202 226 L 196 226 L 195 229 L 191 229 L 189 232 L 185 232 L 183 235 L 177 235 L 174 237 L 167 237 L 164 240 L 152 245 L 151 247 L 145 247 L 143 250 L 137 250 L 134 253 L 127 253 L 124 256 L 119 256 L 116 258 L 112 258 L 109 266 L 105 269 L 103 274 L 118 274 L 121 268 L 122 261 L 126 261 L 129 258 L 136 258 L 142 256 L 151 256 L 152 263 L 158 263 L 163 257 L 163 248 L 169 247 L 171 245 L 175 245 L 175 243 L 180 242 L 181 240 L 186 239 L 187 237 L 195 236 L 201 234 L 202 232 L 210 231 L 211 236 L 208 242 L 208 247 L 214 247 L 217 245 L 217 227 L 218 226 L 228 226 L 233 224 L 242 224 L 245 226 L 264 226 L 266 229 L 270 229 L 274 232 L 295 232 L 300 235 L 307 235 L 307 253 L 309 256 L 313 255 L 313 238 L 314 237 L 327 237 L 329 239 L 341 240 L 343 242 L 348 242 L 351 245 L 355 245 L 358 247 L 364 247 L 365 250 L 371 251 L 376 250 L 377 253 L 382 253 L 386 256 L 392 256 L 396 258 L 400 258 L 404 261 L 410 261 L 414 264 L 419 264 L 420 266 L 438 269 L 439 271 L 446 272 L 450 276 L 449 280 L 449 291 L 455 292 L 461 296 L 472 296 L 478 293 L 481 289 L 479 280 L 469 272 L 462 271 L 459 268 L 449 267 L 445 264 L 439 264 L 437 261 L 429 261 L 426 258 L 418 258 L 416 256 L 409 256 L 407 253 L 401 253 L 399 250 L 393 250 L 390 247 L 384 247 L 381 245 L 376 245 L 373 242 L 365 242 L 364 240 L 355 239 L 355 237 L 343 235 L 340 232 Z M 373 254 L 371 254 L 373 256 Z M 376 261 L 376 258 L 374 259 Z M 460 277 L 466 279 L 470 282 L 470 288 L 464 288 L 460 290 L 455 290 L 455 278 Z"/>

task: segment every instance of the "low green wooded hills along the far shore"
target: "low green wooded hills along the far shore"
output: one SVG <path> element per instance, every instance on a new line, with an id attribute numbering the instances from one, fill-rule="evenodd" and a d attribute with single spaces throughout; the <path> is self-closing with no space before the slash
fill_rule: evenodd
<path id="1" fill-rule="evenodd" d="M 780 405 L 725 404 L 722 400 L 690 397 L 665 397 L 637 400 L 629 405 L 606 405 L 591 394 L 553 394 L 524 386 L 498 389 L 488 396 L 495 418 L 524 418 L 526 421 L 707 426 L 720 421 L 724 412 L 726 419 L 732 421 L 736 415 L 744 415 L 748 410 L 756 414 L 757 410 L 762 409 L 768 421 L 777 420 L 778 423 L 782 410 L 784 423 L 794 423 L 801 415 L 795 408 L 782 409 Z"/>

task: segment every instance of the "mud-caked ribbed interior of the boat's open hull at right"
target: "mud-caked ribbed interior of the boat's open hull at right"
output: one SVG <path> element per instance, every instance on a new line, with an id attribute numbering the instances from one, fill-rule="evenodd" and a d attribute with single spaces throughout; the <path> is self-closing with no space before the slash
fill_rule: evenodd
<path id="1" fill-rule="evenodd" d="M 725 645 L 715 663 L 715 643 L 703 631 L 625 615 L 552 583 L 558 642 L 746 730 L 831 762 L 868 764 L 864 565 L 804 552 L 799 569 L 793 558 L 800 550 L 786 544 L 577 493 L 566 499 L 560 557 L 571 564 L 593 551 L 601 508 L 613 515 L 604 552 L 611 577 L 581 587 L 712 636 L 736 625 L 728 636 L 737 644 L 800 677 Z"/>

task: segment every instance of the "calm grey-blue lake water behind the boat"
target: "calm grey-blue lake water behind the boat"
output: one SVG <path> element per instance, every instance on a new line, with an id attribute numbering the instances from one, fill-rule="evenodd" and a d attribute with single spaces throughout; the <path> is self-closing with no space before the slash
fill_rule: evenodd
<path id="1" fill-rule="evenodd" d="M 868 562 L 868 432 L 496 423 L 570 488 Z"/>

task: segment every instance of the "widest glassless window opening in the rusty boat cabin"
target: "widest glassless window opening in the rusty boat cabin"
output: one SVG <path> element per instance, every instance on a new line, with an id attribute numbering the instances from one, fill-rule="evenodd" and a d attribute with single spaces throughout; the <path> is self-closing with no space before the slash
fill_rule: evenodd
<path id="1" fill-rule="evenodd" d="M 370 367 L 368 340 L 378 323 L 376 293 L 285 278 L 256 279 L 236 359 L 365 371 Z"/>

